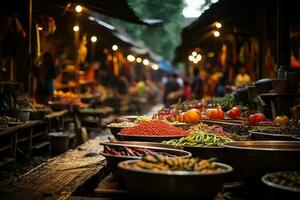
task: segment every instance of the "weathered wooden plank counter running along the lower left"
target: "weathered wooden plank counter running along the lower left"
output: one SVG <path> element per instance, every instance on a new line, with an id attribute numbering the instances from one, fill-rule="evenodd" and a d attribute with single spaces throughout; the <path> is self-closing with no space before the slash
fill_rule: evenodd
<path id="1" fill-rule="evenodd" d="M 1 199 L 67 199 L 78 186 L 94 176 L 104 166 L 98 153 L 100 139 L 95 138 L 49 159 L 46 163 L 0 188 Z"/>

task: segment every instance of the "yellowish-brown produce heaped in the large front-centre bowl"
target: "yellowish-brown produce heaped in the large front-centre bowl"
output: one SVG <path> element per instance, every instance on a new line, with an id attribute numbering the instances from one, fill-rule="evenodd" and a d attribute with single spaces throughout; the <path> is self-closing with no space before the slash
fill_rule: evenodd
<path id="1" fill-rule="evenodd" d="M 203 173 L 223 171 L 223 168 L 212 162 L 214 160 L 214 158 L 202 160 L 200 158 L 169 158 L 153 155 L 144 156 L 142 160 L 128 163 L 126 167 L 154 171 L 194 171 Z"/>

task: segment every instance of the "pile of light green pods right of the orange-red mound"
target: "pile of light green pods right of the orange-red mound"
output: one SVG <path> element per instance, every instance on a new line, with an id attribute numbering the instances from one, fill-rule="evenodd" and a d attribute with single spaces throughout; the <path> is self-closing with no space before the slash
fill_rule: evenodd
<path id="1" fill-rule="evenodd" d="M 221 136 L 200 131 L 196 134 L 182 137 L 180 139 L 163 141 L 163 144 L 192 147 L 218 147 L 225 142 L 231 141 L 233 141 L 233 139 L 228 136 Z"/>

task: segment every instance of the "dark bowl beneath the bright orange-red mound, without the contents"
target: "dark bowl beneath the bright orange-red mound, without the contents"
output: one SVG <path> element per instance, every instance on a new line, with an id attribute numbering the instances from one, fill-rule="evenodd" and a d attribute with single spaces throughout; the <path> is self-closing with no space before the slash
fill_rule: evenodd
<path id="1" fill-rule="evenodd" d="M 119 134 L 120 140 L 123 141 L 144 141 L 144 142 L 163 142 L 165 140 L 179 139 L 184 135 L 165 135 L 165 136 L 147 136 L 147 135 L 122 135 Z"/>

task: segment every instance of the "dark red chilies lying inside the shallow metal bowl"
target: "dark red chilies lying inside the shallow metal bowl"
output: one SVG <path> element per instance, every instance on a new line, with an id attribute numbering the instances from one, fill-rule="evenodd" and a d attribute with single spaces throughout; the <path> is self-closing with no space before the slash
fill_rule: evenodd
<path id="1" fill-rule="evenodd" d="M 139 147 L 112 147 L 104 145 L 104 153 L 115 155 L 115 156 L 134 156 L 134 157 L 142 157 L 148 155 L 164 155 L 168 157 L 175 157 L 175 155 L 168 154 L 166 152 L 157 152 L 154 150 L 150 150 L 147 148 L 139 148 Z"/>

